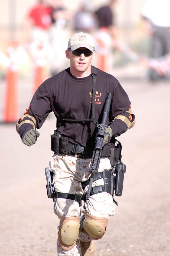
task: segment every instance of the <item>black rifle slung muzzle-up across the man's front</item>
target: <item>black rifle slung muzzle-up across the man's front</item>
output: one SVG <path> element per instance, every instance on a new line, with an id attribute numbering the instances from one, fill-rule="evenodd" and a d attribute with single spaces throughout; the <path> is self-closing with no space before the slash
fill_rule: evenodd
<path id="1" fill-rule="evenodd" d="M 112 101 L 112 94 L 108 93 L 105 104 L 104 104 L 104 111 L 103 111 L 103 117 L 102 117 L 102 123 L 98 124 L 97 128 L 97 134 L 96 134 L 96 142 L 95 142 L 95 148 L 93 151 L 91 164 L 90 164 L 90 170 L 91 173 L 90 181 L 89 181 L 89 188 L 86 195 L 86 200 L 89 200 L 90 194 L 91 194 L 91 187 L 94 180 L 94 174 L 98 172 L 98 167 L 100 163 L 100 158 L 102 154 L 102 148 L 104 146 L 104 134 L 105 134 L 105 128 L 107 128 L 106 121 L 107 117 L 109 115 L 109 109 Z"/>

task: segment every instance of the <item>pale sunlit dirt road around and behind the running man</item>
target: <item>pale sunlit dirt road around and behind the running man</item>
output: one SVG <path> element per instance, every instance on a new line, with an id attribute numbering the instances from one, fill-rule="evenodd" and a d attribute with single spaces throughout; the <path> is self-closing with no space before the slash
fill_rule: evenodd
<path id="1" fill-rule="evenodd" d="M 170 84 L 125 81 L 136 115 L 133 129 L 117 138 L 127 165 L 122 197 L 107 232 L 96 241 L 97 256 L 170 255 Z M 3 95 L 3 85 L 0 85 Z M 21 115 L 31 88 L 20 84 Z M 3 96 L 1 96 L 3 97 Z M 2 110 L 2 107 L 1 107 Z M 50 115 L 32 147 L 22 144 L 15 124 L 0 125 L 0 255 L 54 256 L 58 218 L 46 195 L 45 167 L 52 155 Z"/>

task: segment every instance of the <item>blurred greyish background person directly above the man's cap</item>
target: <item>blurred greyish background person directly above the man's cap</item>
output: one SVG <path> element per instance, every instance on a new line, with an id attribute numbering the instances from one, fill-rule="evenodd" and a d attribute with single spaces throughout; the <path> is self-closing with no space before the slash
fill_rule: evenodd
<path id="1" fill-rule="evenodd" d="M 91 2 L 89 0 L 81 1 L 80 8 L 73 16 L 73 29 L 75 32 L 93 33 L 96 28 L 96 19 L 91 10 Z"/>

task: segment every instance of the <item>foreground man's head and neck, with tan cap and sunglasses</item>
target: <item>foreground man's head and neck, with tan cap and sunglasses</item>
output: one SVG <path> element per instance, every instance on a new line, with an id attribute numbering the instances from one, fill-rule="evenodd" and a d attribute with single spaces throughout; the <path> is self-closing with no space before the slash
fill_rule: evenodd
<path id="1" fill-rule="evenodd" d="M 91 61 L 95 57 L 93 38 L 84 32 L 73 34 L 68 41 L 66 58 L 70 59 L 70 72 L 75 77 L 91 74 Z"/>

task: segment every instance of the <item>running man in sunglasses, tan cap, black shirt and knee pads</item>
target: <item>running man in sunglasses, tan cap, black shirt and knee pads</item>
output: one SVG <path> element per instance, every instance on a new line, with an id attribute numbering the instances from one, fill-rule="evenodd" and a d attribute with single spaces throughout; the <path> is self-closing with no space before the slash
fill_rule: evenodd
<path id="1" fill-rule="evenodd" d="M 55 185 L 54 212 L 59 218 L 58 256 L 95 256 L 94 241 L 104 236 L 109 217 L 115 212 L 111 164 L 121 159 L 115 137 L 135 125 L 135 115 L 119 81 L 92 66 L 96 50 L 89 34 L 73 34 L 65 54 L 70 67 L 39 86 L 16 128 L 22 142 L 32 146 L 40 135 L 36 129 L 54 112 L 57 130 L 51 135 L 54 155 L 50 168 Z M 99 175 L 86 200 L 97 124 L 103 119 L 108 93 L 113 100 L 104 128 Z M 81 207 L 82 196 L 85 204 Z"/>

